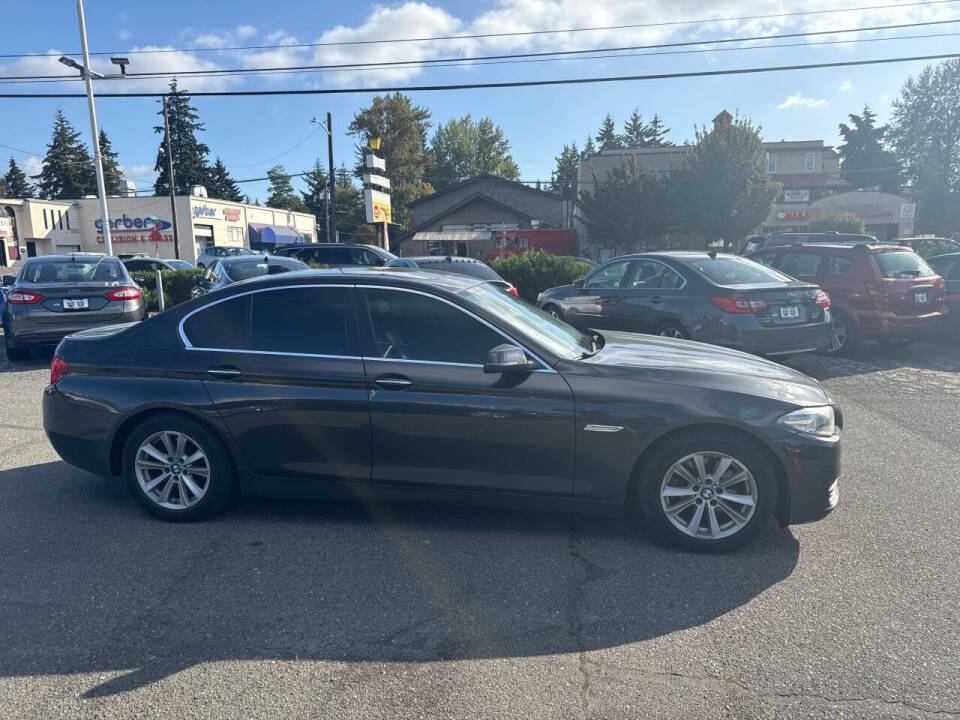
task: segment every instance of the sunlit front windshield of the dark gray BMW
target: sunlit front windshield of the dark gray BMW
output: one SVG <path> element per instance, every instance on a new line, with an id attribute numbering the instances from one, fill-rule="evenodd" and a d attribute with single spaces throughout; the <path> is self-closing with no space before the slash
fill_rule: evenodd
<path id="1" fill-rule="evenodd" d="M 594 350 L 593 342 L 585 333 L 492 285 L 474 285 L 459 294 L 562 358 L 572 360 Z"/>

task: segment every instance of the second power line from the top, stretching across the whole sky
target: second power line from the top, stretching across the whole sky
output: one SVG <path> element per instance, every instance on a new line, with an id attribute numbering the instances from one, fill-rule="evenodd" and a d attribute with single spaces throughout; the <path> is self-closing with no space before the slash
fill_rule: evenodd
<path id="1" fill-rule="evenodd" d="M 545 52 L 529 53 L 505 53 L 500 55 L 479 55 L 474 57 L 447 57 L 432 58 L 423 60 L 387 60 L 380 62 L 365 63 L 337 63 L 327 65 L 288 65 L 281 67 L 260 67 L 260 68 L 217 68 L 206 70 L 163 70 L 152 72 L 128 72 L 124 77 L 128 78 L 159 78 L 159 77 L 215 77 L 221 75 L 247 75 L 267 72 L 302 72 L 315 70 L 356 70 L 362 68 L 390 68 L 397 66 L 432 66 L 443 64 L 466 64 L 486 60 L 516 60 L 523 58 L 546 58 L 546 57 L 571 57 L 583 56 L 591 53 L 617 53 L 629 50 L 650 50 L 657 48 L 682 48 L 700 45 L 728 45 L 733 43 L 756 42 L 763 40 L 788 40 L 791 38 L 816 37 L 820 35 L 845 35 L 858 32 L 876 32 L 884 30 L 905 30 L 915 27 L 929 27 L 939 25 L 955 25 L 960 23 L 960 18 L 952 20 L 929 20 L 926 22 L 900 23 L 897 25 L 870 25 L 866 27 L 855 28 L 833 28 L 828 30 L 813 30 L 809 32 L 780 33 L 773 35 L 747 35 L 733 38 L 717 38 L 714 40 L 685 40 L 670 43 L 655 43 L 647 45 L 623 45 L 619 47 L 589 48 L 581 50 L 554 50 Z M 0 80 L 61 80 L 71 78 L 64 75 L 0 75 Z M 123 79 L 123 78 L 116 78 Z"/>

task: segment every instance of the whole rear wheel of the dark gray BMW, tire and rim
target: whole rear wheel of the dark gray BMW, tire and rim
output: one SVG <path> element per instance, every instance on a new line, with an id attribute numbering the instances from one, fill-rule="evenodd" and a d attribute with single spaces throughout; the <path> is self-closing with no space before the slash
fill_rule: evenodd
<path id="1" fill-rule="evenodd" d="M 219 510 L 234 484 L 233 462 L 205 425 L 180 415 L 157 415 L 138 425 L 123 452 L 134 496 L 164 520 L 200 520 Z"/>

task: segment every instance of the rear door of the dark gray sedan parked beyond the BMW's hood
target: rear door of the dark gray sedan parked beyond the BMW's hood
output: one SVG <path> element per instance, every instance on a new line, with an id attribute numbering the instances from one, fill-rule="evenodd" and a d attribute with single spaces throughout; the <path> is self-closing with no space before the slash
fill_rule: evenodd
<path id="1" fill-rule="evenodd" d="M 604 303 L 613 316 L 611 329 L 656 332 L 684 285 L 683 276 L 659 260 L 635 260 L 621 287 Z"/>

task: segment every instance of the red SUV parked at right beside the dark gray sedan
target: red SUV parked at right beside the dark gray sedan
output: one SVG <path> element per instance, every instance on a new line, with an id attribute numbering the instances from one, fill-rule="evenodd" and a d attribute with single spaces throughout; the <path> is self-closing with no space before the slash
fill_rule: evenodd
<path id="1" fill-rule="evenodd" d="M 798 243 L 749 257 L 830 295 L 828 352 L 864 340 L 901 340 L 935 331 L 947 314 L 943 278 L 909 247 L 866 243 Z"/>

